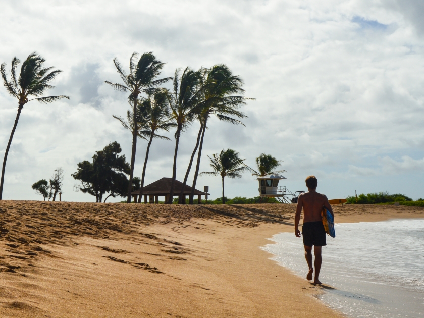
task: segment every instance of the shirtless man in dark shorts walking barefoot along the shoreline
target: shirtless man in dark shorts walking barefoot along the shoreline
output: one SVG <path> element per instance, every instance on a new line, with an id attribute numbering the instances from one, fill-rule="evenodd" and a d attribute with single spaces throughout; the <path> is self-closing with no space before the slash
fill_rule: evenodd
<path id="1" fill-rule="evenodd" d="M 303 245 L 305 247 L 306 262 L 308 263 L 309 267 L 309 272 L 306 276 L 306 279 L 308 281 L 312 280 L 313 246 L 313 254 L 315 255 L 315 277 L 313 283 L 321 284 L 320 280 L 318 279 L 321 270 L 321 263 L 323 261 L 321 257 L 321 247 L 327 245 L 326 231 L 324 229 L 323 219 L 321 217 L 323 206 L 327 207 L 333 218 L 334 214 L 327 197 L 324 194 L 316 192 L 318 181 L 316 180 L 315 176 L 309 176 L 305 181 L 308 192 L 300 194 L 297 200 L 296 215 L 294 217 L 294 232 L 297 237 L 300 237 L 298 226 L 300 221 L 300 214 L 302 213 L 303 208 Z"/>

